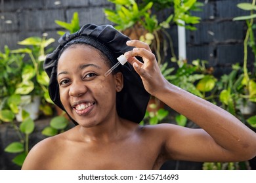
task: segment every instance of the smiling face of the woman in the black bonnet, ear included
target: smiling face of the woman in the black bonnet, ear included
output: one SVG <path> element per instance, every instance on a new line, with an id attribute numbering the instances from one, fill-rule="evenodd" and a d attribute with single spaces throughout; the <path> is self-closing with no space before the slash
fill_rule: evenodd
<path id="1" fill-rule="evenodd" d="M 123 87 L 121 73 L 104 76 L 110 69 L 100 52 L 75 44 L 58 60 L 60 101 L 80 125 L 92 127 L 116 117 L 116 92 Z"/>

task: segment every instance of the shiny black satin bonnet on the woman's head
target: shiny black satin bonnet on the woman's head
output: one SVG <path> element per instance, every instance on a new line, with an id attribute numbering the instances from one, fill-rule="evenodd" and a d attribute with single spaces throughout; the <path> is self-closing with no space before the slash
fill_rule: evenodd
<path id="1" fill-rule="evenodd" d="M 60 37 L 58 47 L 53 53 L 47 55 L 44 69 L 50 78 L 49 95 L 53 102 L 62 110 L 65 110 L 65 108 L 60 101 L 57 82 L 58 58 L 62 48 L 77 37 L 87 37 L 87 39 L 83 39 L 84 43 L 94 46 L 103 52 L 110 59 L 112 65 L 117 63 L 117 58 L 121 54 L 133 49 L 126 44 L 130 40 L 129 37 L 117 31 L 112 25 L 86 24 L 76 33 L 65 33 L 65 35 Z M 121 118 L 139 123 L 144 118 L 150 94 L 144 89 L 140 76 L 130 63 L 127 62 L 125 65 L 119 66 L 119 71 L 123 73 L 124 84 L 121 92 L 117 93 L 117 114 Z M 77 124 L 74 119 L 72 120 Z"/>

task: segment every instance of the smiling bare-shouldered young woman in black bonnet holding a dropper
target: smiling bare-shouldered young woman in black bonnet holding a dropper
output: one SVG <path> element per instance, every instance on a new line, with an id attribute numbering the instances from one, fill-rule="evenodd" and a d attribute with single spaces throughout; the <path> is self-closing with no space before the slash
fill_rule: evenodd
<path id="1" fill-rule="evenodd" d="M 59 42 L 45 60 L 49 93 L 77 125 L 35 145 L 22 169 L 160 169 L 167 159 L 256 156 L 256 133 L 222 108 L 167 82 L 148 44 L 129 41 L 111 25 L 94 24 Z M 104 76 L 121 54 L 129 63 Z M 149 94 L 201 128 L 139 125 Z"/>

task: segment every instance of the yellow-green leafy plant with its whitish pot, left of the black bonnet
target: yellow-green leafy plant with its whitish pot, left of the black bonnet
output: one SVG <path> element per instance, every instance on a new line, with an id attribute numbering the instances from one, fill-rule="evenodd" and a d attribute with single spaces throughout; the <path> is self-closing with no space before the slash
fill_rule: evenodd
<path id="1" fill-rule="evenodd" d="M 13 54 L 26 54 L 28 59 L 23 61 L 21 81 L 16 84 L 14 95 L 20 96 L 20 109 L 17 114 L 17 120 L 22 121 L 22 110 L 31 112 L 30 117 L 35 120 L 38 117 L 39 107 L 45 114 L 51 114 L 52 103 L 49 93 L 49 77 L 43 71 L 43 61 L 45 59 L 45 48 L 54 42 L 54 39 L 46 37 L 29 37 L 18 42 L 27 48 L 12 50 Z M 32 113 L 33 112 L 33 113 Z"/>

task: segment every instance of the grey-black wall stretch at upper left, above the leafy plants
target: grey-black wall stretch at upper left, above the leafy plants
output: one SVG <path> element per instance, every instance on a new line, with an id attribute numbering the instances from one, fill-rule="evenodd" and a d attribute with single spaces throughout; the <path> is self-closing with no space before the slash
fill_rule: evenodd
<path id="1" fill-rule="evenodd" d="M 43 33 L 48 33 L 48 37 L 57 40 L 56 31 L 60 27 L 54 20 L 70 22 L 75 11 L 79 12 L 81 25 L 89 22 L 109 24 L 102 8 L 113 7 L 107 0 L 1 1 L 0 50 L 3 50 L 5 44 L 10 48 L 17 48 L 16 42 L 30 36 L 41 37 Z"/>

